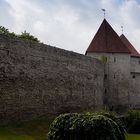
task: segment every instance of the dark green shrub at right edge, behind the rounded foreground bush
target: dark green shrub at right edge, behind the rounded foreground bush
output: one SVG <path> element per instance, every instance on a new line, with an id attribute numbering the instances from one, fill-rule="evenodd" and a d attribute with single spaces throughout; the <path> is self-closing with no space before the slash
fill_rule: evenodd
<path id="1" fill-rule="evenodd" d="M 126 130 L 129 133 L 140 134 L 140 111 L 128 111 L 124 118 Z"/>

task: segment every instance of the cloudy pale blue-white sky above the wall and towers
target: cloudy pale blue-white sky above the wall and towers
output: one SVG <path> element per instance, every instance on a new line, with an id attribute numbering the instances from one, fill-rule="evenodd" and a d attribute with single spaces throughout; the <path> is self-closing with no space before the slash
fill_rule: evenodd
<path id="1" fill-rule="evenodd" d="M 140 52 L 140 0 L 0 0 L 0 26 L 84 54 L 103 21 L 102 8 L 118 35 L 123 25 Z"/>

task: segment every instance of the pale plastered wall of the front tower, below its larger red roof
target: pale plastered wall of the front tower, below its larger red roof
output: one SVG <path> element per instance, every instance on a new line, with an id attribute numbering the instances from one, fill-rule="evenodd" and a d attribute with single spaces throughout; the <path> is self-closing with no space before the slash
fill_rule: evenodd
<path id="1" fill-rule="evenodd" d="M 129 106 L 130 103 L 130 54 L 87 53 L 87 56 L 101 59 L 106 57 L 104 76 L 104 104 L 110 109 Z M 102 61 L 102 60 L 101 60 Z"/>

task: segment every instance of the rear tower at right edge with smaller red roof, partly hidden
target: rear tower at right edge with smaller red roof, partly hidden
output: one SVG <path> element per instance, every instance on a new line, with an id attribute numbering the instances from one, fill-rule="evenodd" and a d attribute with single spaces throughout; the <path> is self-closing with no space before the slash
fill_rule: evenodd
<path id="1" fill-rule="evenodd" d="M 130 107 L 140 108 L 140 54 L 124 34 L 120 36 L 131 52 L 130 59 Z"/>

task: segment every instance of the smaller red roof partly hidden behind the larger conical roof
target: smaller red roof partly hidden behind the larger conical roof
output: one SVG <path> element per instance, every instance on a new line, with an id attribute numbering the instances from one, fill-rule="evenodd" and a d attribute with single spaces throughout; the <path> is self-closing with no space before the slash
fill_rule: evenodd
<path id="1" fill-rule="evenodd" d="M 130 50 L 131 56 L 140 57 L 140 54 L 137 52 L 134 46 L 128 41 L 128 39 L 123 34 L 120 36 L 120 38 L 125 44 L 125 46 Z"/>

